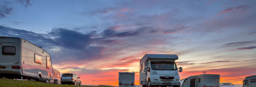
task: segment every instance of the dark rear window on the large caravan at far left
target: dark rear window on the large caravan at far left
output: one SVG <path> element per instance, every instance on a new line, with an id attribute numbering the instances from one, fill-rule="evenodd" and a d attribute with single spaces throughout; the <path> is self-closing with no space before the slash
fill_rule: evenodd
<path id="1" fill-rule="evenodd" d="M 15 55 L 16 54 L 15 46 L 3 46 L 2 54 L 3 55 Z"/>

